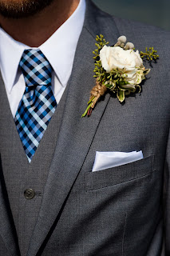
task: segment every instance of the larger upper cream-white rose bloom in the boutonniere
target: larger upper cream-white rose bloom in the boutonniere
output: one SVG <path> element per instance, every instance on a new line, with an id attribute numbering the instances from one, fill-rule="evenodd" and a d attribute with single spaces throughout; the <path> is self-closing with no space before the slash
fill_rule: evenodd
<path id="1" fill-rule="evenodd" d="M 104 46 L 100 51 L 101 64 L 109 73 L 113 69 L 120 71 L 136 70 L 136 67 L 142 65 L 139 51 L 124 50 L 121 47 Z"/>

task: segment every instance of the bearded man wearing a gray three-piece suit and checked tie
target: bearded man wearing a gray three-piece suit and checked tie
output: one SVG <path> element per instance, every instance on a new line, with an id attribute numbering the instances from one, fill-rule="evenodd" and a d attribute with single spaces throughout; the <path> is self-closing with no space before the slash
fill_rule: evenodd
<path id="1" fill-rule="evenodd" d="M 89 0 L 0 6 L 0 255 L 169 255 L 169 33 L 113 18 Z M 95 83 L 97 34 L 110 45 L 124 34 L 136 49 L 154 46 L 160 59 L 141 94 L 123 105 L 105 94 L 81 118 Z M 55 109 L 34 153 L 20 136 L 18 110 L 33 81 L 22 65 L 31 52 L 31 65 L 48 62 Z M 96 151 L 134 150 L 144 158 L 92 172 Z"/>

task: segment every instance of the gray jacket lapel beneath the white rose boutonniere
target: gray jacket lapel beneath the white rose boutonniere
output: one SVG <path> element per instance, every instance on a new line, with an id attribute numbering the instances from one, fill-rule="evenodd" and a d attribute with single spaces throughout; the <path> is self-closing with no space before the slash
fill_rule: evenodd
<path id="1" fill-rule="evenodd" d="M 109 102 L 109 94 L 106 94 L 105 100 L 97 104 L 90 118 L 81 118 L 81 114 L 85 111 L 89 100 L 89 92 L 95 82 L 93 78 L 94 61 L 92 52 L 95 47 L 96 34 L 102 33 L 102 30 L 104 30 L 103 25 L 105 27 L 104 23 L 106 22 L 101 21 L 100 27 L 95 18 L 97 18 L 97 10 L 89 2 L 85 26 L 77 45 L 73 72 L 69 79 L 69 90 L 61 122 L 61 130 L 57 138 L 53 162 L 45 185 L 38 222 L 30 241 L 28 256 L 34 256 L 38 253 L 53 226 L 53 222 L 57 222 L 57 215 L 81 170 L 97 126 Z M 91 30 L 92 25 L 94 30 Z M 113 20 L 111 26 L 113 26 Z M 113 30 L 114 34 L 111 34 L 108 40 L 116 42 L 117 29 L 114 28 Z"/>

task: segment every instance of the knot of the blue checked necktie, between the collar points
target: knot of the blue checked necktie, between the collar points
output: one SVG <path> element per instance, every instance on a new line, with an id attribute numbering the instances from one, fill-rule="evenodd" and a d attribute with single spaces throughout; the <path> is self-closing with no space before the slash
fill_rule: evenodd
<path id="1" fill-rule="evenodd" d="M 26 86 L 45 86 L 51 83 L 52 66 L 41 50 L 24 50 L 19 66 Z"/>

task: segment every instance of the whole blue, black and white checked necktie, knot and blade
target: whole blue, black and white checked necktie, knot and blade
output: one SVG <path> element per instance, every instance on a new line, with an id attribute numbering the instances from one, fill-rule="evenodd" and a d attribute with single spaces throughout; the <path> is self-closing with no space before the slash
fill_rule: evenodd
<path id="1" fill-rule="evenodd" d="M 14 122 L 26 156 L 31 162 L 57 102 L 51 89 L 52 67 L 41 50 L 25 50 L 19 66 L 25 78 L 26 90 Z"/>

